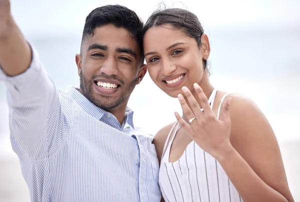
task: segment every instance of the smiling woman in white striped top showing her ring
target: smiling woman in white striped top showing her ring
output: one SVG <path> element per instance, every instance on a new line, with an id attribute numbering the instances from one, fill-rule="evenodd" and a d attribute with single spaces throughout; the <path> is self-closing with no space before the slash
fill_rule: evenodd
<path id="1" fill-rule="evenodd" d="M 293 201 L 265 116 L 247 97 L 210 83 L 209 41 L 196 15 L 156 11 L 142 34 L 151 79 L 183 110 L 153 140 L 164 200 Z"/>

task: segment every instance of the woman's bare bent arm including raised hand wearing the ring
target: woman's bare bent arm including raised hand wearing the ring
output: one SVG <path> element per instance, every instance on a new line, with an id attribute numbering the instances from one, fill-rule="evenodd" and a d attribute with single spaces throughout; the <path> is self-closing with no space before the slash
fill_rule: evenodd
<path id="1" fill-rule="evenodd" d="M 217 119 L 201 88 L 195 89 L 200 103 L 188 89 L 184 92 L 191 109 L 183 97 L 178 98 L 186 119 L 194 115 L 196 119 L 188 124 L 176 113 L 177 120 L 203 150 L 219 161 L 243 201 L 294 201 L 278 143 L 258 107 L 249 99 L 233 95 L 223 102 Z"/>

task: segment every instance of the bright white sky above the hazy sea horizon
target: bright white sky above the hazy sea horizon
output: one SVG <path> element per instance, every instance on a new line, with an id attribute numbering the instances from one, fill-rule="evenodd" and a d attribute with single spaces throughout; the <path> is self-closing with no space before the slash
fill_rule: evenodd
<path id="1" fill-rule="evenodd" d="M 145 21 L 159 7 L 158 0 L 109 0 L 136 11 Z M 163 1 L 167 7 L 187 8 L 204 27 L 297 27 L 300 29 L 299 0 L 182 0 Z M 25 35 L 81 32 L 86 15 L 104 0 L 11 0 L 12 14 Z"/>

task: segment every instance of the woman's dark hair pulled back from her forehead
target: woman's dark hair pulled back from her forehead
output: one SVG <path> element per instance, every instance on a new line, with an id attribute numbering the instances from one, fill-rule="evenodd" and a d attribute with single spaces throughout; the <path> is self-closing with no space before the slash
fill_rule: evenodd
<path id="1" fill-rule="evenodd" d="M 171 24 L 174 28 L 184 31 L 188 36 L 196 40 L 199 47 L 201 46 L 201 36 L 204 30 L 198 17 L 194 13 L 181 8 L 167 8 L 154 11 L 143 26 L 141 31 L 142 38 L 149 28 L 163 24 Z M 207 61 L 205 59 L 203 59 L 203 66 L 204 70 L 207 69 Z"/>

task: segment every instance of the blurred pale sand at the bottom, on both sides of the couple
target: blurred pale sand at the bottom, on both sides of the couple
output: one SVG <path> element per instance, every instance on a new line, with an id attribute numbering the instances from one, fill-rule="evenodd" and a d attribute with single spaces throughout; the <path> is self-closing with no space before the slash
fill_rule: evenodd
<path id="1" fill-rule="evenodd" d="M 287 180 L 295 201 L 300 201 L 300 139 L 279 142 Z M 0 159 L 0 202 L 29 202 L 29 192 L 16 156 Z"/>

